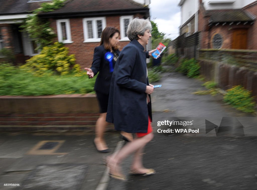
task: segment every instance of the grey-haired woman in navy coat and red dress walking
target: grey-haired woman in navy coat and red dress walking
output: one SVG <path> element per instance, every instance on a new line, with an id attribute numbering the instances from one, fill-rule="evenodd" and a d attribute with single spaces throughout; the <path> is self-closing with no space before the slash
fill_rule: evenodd
<path id="1" fill-rule="evenodd" d="M 123 148 L 106 157 L 110 175 L 125 180 L 120 164 L 129 154 L 135 152 L 130 173 L 148 176 L 155 174 L 153 169 L 143 167 L 142 151 L 153 138 L 151 121 L 151 98 L 153 85 L 147 77 L 146 58 L 155 51 L 144 51 L 151 37 L 149 20 L 135 18 L 128 25 L 127 36 L 131 42 L 125 46 L 116 62 L 111 80 L 106 121 L 114 123 L 115 129 L 136 133 L 137 138 Z"/>

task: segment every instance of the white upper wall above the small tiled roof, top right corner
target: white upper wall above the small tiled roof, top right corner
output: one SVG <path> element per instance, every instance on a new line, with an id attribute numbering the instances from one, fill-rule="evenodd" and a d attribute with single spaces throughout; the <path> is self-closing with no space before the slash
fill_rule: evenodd
<path id="1" fill-rule="evenodd" d="M 234 0 L 234 3 L 215 3 L 215 4 L 210 4 L 210 1 L 232 1 L 232 0 L 203 0 L 204 7 L 206 10 L 217 10 L 217 9 L 240 9 L 256 0 Z"/>

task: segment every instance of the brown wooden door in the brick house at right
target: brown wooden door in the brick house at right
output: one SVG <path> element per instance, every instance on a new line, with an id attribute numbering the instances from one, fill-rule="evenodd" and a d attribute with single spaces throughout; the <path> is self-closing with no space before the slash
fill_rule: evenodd
<path id="1" fill-rule="evenodd" d="M 235 29 L 232 40 L 232 49 L 247 49 L 247 29 Z"/>

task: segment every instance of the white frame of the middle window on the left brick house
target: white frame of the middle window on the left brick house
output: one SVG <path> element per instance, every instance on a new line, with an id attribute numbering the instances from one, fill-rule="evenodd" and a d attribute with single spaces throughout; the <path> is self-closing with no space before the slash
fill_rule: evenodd
<path id="1" fill-rule="evenodd" d="M 101 41 L 101 38 L 98 38 L 98 33 L 97 33 L 97 22 L 96 22 L 97 20 L 102 21 L 102 31 L 103 31 L 106 27 L 106 18 L 105 17 L 93 17 L 93 18 L 82 19 L 83 32 L 84 32 L 84 43 Z M 92 21 L 93 38 L 88 38 L 87 21 Z"/>

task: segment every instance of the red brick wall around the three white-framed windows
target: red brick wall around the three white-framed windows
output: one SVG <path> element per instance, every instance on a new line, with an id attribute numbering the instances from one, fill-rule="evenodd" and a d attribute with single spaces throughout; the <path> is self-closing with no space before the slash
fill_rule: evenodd
<path id="1" fill-rule="evenodd" d="M 142 18 L 140 14 L 134 15 Z M 84 43 L 83 23 L 81 18 L 70 19 L 71 39 L 73 43 L 65 44 L 69 48 L 70 54 L 75 54 L 77 64 L 81 68 L 90 67 L 93 61 L 94 48 L 99 45 L 99 42 Z M 120 30 L 120 16 L 106 16 L 106 26 L 116 27 Z M 51 20 L 51 27 L 57 33 L 56 20 Z M 58 41 L 56 38 L 55 41 Z M 126 46 L 130 41 L 120 41 L 120 50 Z"/>

